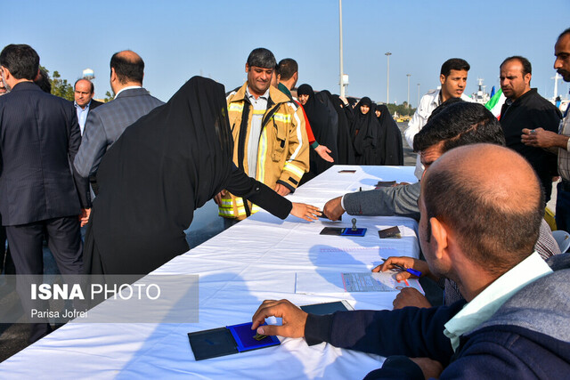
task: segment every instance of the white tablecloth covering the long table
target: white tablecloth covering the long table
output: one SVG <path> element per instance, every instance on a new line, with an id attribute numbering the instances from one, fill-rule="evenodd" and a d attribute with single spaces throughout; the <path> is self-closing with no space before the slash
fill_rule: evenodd
<path id="1" fill-rule="evenodd" d="M 338 173 L 356 169 L 354 174 Z M 373 189 L 379 180 L 414 182 L 413 166 L 333 166 L 288 198 L 322 207 L 346 192 Z M 296 273 L 322 276 L 370 271 L 382 249 L 418 257 L 417 223 L 403 217 L 357 217 L 364 238 L 319 235 L 324 226 L 289 216 L 281 221 L 265 211 L 225 230 L 155 273 L 199 274 L 199 323 L 69 323 L 0 363 L 1 378 L 362 378 L 382 358 L 281 338 L 281 345 L 209 360 L 194 360 L 187 333 L 251 320 L 264 299 L 287 298 L 299 305 L 346 299 L 354 309 L 391 309 L 395 293 L 295 294 Z M 403 239 L 383 239 L 377 230 L 400 225 Z M 385 251 L 385 252 L 395 252 Z M 374 260 L 375 259 L 375 260 Z"/>

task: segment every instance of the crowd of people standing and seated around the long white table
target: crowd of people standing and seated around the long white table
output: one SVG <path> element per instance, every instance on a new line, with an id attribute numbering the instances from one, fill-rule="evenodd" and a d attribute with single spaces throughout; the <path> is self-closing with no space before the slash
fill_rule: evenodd
<path id="1" fill-rule="evenodd" d="M 570 29 L 555 55 L 570 82 Z M 115 99 L 104 104 L 87 79 L 73 102 L 51 95 L 26 44 L 5 46 L 0 69 L 0 214 L 16 274 L 43 272 L 45 239 L 62 274 L 143 276 L 189 249 L 183 231 L 212 198 L 227 227 L 259 207 L 306 221 L 408 216 L 419 221 L 426 261 L 390 257 L 374 271 L 419 269 L 444 287 L 444 305 L 406 289 L 395 311 L 319 317 L 269 300 L 253 328 L 387 356 L 371 377 L 570 370 L 570 258 L 543 219 L 559 174 L 557 222 L 567 229 L 570 117 L 530 87 L 524 57 L 501 63 L 500 121 L 463 95 L 468 62 L 445 61 L 441 89 L 421 99 L 404 133 L 420 181 L 346 194 L 322 211 L 283 197 L 332 165 L 403 165 L 403 138 L 386 105 L 297 88 L 292 59 L 257 48 L 245 84 L 225 93 L 192 77 L 166 103 L 142 87 L 144 62 L 132 51 L 111 57 Z M 18 292 L 27 310 L 26 289 Z M 269 316 L 282 326 L 260 327 Z M 35 324 L 30 342 L 51 328 Z"/>

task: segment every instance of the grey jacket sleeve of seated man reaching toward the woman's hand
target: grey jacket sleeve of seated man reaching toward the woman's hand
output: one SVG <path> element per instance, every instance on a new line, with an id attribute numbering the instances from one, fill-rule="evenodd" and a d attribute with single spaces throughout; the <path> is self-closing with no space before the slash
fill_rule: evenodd
<path id="1" fill-rule="evenodd" d="M 408 216 L 419 220 L 419 182 L 345 195 L 343 204 L 350 215 Z"/>

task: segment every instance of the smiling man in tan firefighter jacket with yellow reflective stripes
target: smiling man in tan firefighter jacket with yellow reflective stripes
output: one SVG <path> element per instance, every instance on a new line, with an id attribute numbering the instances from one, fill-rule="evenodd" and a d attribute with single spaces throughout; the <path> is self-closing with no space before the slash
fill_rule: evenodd
<path id="1" fill-rule="evenodd" d="M 265 48 L 248 56 L 248 81 L 227 97 L 233 133 L 233 162 L 282 196 L 297 188 L 309 169 L 303 111 L 271 85 L 275 57 Z M 256 205 L 223 190 L 215 197 L 225 225 L 248 217 Z M 226 222 L 231 220 L 232 222 Z"/>

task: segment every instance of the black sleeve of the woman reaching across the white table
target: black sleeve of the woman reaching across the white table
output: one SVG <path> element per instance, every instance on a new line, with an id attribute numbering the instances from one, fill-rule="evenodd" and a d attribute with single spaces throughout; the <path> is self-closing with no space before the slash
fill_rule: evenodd
<path id="1" fill-rule="evenodd" d="M 243 173 L 243 170 L 240 170 L 235 165 L 233 166 L 230 183 L 226 186 L 226 189 L 238 197 L 248 199 L 248 201 L 255 203 L 281 219 L 289 216 L 293 207 L 288 199 L 281 197 L 281 195 L 267 187 L 264 183 L 248 177 L 247 174 Z"/>

